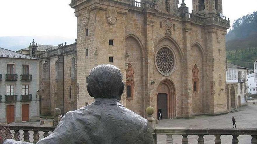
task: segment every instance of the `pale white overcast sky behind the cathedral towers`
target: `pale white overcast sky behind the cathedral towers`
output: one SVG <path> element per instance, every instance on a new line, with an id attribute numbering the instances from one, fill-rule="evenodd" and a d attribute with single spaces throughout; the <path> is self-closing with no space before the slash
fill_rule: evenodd
<path id="1" fill-rule="evenodd" d="M 179 0 L 181 3 L 181 0 Z M 1 0 L 0 36 L 77 37 L 77 18 L 70 0 Z M 192 0 L 185 0 L 191 12 Z M 234 19 L 257 11 L 257 0 L 223 0 L 223 14 Z"/>

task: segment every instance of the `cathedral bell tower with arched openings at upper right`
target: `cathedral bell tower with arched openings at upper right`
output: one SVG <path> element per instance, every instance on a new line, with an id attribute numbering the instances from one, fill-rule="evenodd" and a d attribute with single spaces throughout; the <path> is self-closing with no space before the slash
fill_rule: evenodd
<path id="1" fill-rule="evenodd" d="M 222 0 L 193 0 L 195 14 L 222 13 Z"/>

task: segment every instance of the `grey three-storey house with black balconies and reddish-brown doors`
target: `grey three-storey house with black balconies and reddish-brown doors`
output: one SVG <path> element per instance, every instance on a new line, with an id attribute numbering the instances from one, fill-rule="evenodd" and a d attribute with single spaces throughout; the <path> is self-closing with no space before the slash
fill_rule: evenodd
<path id="1" fill-rule="evenodd" d="M 39 120 L 40 60 L 0 48 L 0 122 Z"/>

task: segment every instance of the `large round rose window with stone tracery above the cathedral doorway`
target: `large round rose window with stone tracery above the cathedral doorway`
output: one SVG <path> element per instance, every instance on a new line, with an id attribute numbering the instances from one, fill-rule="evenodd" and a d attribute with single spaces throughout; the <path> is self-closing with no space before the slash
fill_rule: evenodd
<path id="1" fill-rule="evenodd" d="M 157 70 L 164 76 L 169 76 L 174 71 L 175 57 L 171 49 L 163 47 L 155 55 Z"/>

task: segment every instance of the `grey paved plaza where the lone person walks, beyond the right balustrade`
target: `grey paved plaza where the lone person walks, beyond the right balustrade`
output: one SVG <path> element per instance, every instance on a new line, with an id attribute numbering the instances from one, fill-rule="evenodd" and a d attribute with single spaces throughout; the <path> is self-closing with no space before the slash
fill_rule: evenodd
<path id="1" fill-rule="evenodd" d="M 196 116 L 194 119 L 165 119 L 159 121 L 157 127 L 186 127 L 186 128 L 232 128 L 232 116 L 235 117 L 237 128 L 256 128 L 256 106 L 243 106 L 241 110 L 235 113 L 228 113 L 225 115 L 219 116 L 207 116 L 200 115 Z M 197 144 L 198 136 L 189 135 L 189 144 Z M 222 144 L 231 144 L 232 136 L 222 135 L 221 137 Z M 206 135 L 204 136 L 204 144 L 213 144 L 215 136 Z M 251 136 L 239 136 L 239 144 L 251 144 Z M 173 135 L 173 143 L 181 144 L 182 143 L 181 135 Z M 166 144 L 166 135 L 157 135 L 158 144 Z"/>

